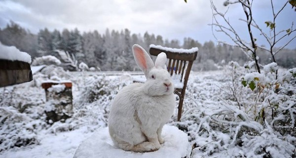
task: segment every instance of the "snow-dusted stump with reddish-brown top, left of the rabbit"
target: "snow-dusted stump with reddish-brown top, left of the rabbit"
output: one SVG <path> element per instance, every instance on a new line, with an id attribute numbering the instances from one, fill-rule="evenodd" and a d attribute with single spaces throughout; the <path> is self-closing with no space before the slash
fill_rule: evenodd
<path id="1" fill-rule="evenodd" d="M 72 105 L 72 82 L 71 81 L 43 81 L 41 84 L 45 89 L 46 104 L 45 114 L 46 121 L 50 124 L 73 115 Z"/>

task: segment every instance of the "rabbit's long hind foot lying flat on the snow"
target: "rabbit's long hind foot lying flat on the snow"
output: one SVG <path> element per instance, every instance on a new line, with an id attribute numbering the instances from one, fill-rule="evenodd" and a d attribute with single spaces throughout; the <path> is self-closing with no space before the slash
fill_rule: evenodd
<path id="1" fill-rule="evenodd" d="M 126 151 L 133 151 L 133 152 L 154 152 L 159 149 L 151 142 L 142 142 L 137 145 L 131 145 L 127 142 L 118 142 L 117 146 Z"/>

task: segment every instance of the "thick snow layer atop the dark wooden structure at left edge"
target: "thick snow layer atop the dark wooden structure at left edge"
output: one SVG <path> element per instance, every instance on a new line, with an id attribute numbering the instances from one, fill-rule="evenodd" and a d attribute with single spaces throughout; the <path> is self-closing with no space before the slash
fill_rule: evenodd
<path id="1" fill-rule="evenodd" d="M 31 63 L 31 56 L 26 53 L 18 50 L 15 46 L 6 46 L 0 42 L 0 59 L 5 60 L 18 60 L 27 63 Z"/>

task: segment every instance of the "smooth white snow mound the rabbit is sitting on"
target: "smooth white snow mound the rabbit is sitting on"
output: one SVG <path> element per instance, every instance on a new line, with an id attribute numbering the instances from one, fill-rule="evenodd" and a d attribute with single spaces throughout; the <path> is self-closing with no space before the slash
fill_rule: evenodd
<path id="1" fill-rule="evenodd" d="M 175 126 L 164 125 L 164 144 L 155 152 L 128 152 L 113 146 L 108 127 L 101 128 L 84 140 L 74 158 L 183 158 L 187 156 L 189 142 L 187 134 Z"/>

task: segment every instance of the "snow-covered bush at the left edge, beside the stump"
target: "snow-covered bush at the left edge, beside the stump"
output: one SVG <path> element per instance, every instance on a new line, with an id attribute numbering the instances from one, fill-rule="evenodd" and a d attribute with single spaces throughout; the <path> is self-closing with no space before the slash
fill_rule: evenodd
<path id="1" fill-rule="evenodd" d="M 0 88 L 0 152 L 38 144 L 43 121 L 43 89 L 24 83 Z"/>

